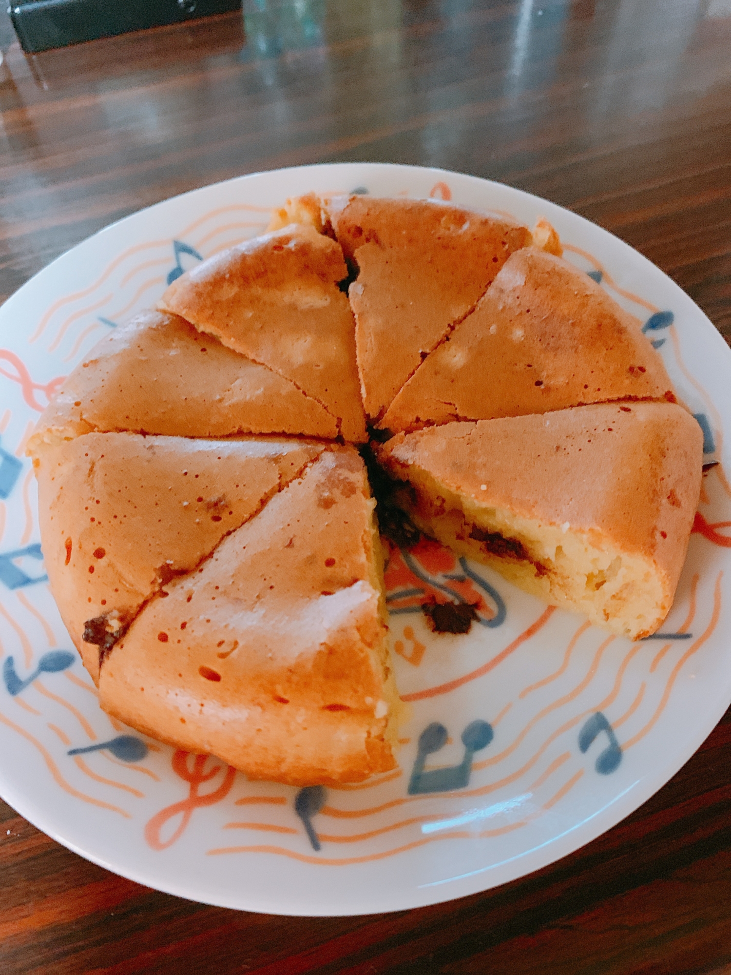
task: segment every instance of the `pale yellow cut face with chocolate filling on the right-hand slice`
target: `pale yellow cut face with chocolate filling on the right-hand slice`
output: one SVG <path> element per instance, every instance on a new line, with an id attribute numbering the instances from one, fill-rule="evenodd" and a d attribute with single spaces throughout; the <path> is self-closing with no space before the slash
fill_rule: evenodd
<path id="1" fill-rule="evenodd" d="M 417 467 L 395 500 L 421 531 L 460 556 L 490 565 L 544 602 L 584 613 L 622 637 L 654 632 L 671 605 L 657 565 L 598 532 L 545 524 L 457 494 Z"/>

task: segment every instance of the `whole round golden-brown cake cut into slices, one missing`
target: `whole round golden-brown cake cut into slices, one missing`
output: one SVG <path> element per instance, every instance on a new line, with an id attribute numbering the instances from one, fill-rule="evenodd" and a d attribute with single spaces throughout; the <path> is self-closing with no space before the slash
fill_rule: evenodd
<path id="1" fill-rule="evenodd" d="M 28 444 L 102 708 L 294 785 L 396 764 L 378 504 L 636 640 L 673 603 L 702 450 L 546 221 L 313 194 L 98 343 Z"/>

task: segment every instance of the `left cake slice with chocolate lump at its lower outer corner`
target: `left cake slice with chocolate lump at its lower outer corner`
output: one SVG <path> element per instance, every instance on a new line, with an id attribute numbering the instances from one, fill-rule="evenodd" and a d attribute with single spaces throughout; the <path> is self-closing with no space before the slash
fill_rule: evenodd
<path id="1" fill-rule="evenodd" d="M 140 605 L 195 568 L 323 449 L 305 441 L 92 433 L 40 451 L 46 570 L 95 681 L 99 654 Z"/>

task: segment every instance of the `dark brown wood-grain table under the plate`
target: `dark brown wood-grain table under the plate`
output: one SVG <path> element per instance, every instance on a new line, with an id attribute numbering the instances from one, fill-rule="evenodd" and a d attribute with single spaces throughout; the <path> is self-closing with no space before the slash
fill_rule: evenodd
<path id="1" fill-rule="evenodd" d="M 595 220 L 731 338 L 731 0 L 262 0 L 245 20 L 33 58 L 14 44 L 0 108 L 0 299 L 184 190 L 393 161 Z M 731 712 L 652 800 L 557 864 L 437 907 L 320 919 L 148 890 L 0 803 L 0 971 L 728 972 L 730 803 Z"/>

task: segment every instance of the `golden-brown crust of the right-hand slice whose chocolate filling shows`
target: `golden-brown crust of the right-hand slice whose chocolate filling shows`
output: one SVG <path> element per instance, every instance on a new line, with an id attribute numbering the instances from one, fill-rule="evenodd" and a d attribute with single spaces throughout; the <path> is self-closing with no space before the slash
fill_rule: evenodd
<path id="1" fill-rule="evenodd" d="M 600 404 L 448 423 L 398 434 L 378 456 L 401 480 L 423 471 L 478 508 L 641 558 L 663 594 L 655 628 L 670 608 L 703 461 L 703 434 L 685 409 Z"/>

